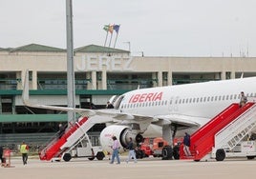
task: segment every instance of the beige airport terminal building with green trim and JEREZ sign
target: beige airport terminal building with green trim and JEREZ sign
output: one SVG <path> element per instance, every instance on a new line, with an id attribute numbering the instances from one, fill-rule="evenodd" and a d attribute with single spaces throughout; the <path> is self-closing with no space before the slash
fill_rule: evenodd
<path id="1" fill-rule="evenodd" d="M 75 49 L 76 107 L 102 109 L 111 96 L 132 89 L 256 76 L 256 57 L 130 54 L 128 50 L 96 45 Z M 58 130 L 58 123 L 67 122 L 65 112 L 24 106 L 21 93 L 26 70 L 30 71 L 32 102 L 67 106 L 66 50 L 39 44 L 0 48 L 0 139 L 6 143 L 27 137 L 43 141 L 42 136 L 47 138 Z M 102 128 L 104 125 L 98 125 L 90 132 L 93 135 Z M 10 138 L 14 141 L 9 141 Z M 97 143 L 96 140 L 92 142 Z"/>

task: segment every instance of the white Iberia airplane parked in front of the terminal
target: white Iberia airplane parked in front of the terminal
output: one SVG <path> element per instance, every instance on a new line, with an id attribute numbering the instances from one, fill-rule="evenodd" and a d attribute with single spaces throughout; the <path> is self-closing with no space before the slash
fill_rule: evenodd
<path id="1" fill-rule="evenodd" d="M 174 137 L 183 137 L 185 131 L 193 133 L 232 103 L 239 103 L 241 91 L 248 101 L 255 101 L 256 77 L 135 89 L 118 96 L 115 109 L 75 109 L 33 104 L 27 72 L 22 99 L 32 108 L 72 110 L 99 121 L 108 119 L 100 132 L 100 144 L 111 151 L 113 135 L 124 149 L 130 137 L 139 143 L 143 137 L 162 136 L 172 146 Z"/>

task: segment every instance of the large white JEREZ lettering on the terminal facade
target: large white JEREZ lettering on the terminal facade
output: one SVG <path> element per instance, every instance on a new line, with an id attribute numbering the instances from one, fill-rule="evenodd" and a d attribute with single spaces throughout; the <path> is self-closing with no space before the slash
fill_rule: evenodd
<path id="1" fill-rule="evenodd" d="M 132 57 L 83 55 L 76 63 L 76 70 L 131 71 Z"/>

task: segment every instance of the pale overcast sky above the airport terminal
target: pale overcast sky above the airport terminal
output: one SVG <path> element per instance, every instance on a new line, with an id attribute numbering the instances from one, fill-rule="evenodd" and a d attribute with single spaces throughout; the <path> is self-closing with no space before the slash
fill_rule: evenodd
<path id="1" fill-rule="evenodd" d="M 74 47 L 104 46 L 104 25 L 120 25 L 110 47 L 134 56 L 256 56 L 255 0 L 73 0 Z M 110 34 L 106 46 L 109 47 Z M 0 0 L 0 48 L 66 49 L 66 0 Z"/>

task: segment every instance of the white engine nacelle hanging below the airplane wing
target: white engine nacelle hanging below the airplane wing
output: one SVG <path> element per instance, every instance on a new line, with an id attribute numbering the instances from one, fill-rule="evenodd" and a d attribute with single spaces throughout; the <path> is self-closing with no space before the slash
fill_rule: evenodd
<path id="1" fill-rule="evenodd" d="M 107 150 L 108 152 L 112 151 L 111 146 L 113 145 L 113 136 L 117 137 L 117 140 L 120 143 L 122 152 L 128 145 L 129 138 L 132 137 L 134 142 L 139 143 L 142 141 L 143 137 L 139 134 L 139 130 L 130 129 L 128 126 L 119 126 L 119 125 L 112 125 L 105 129 L 103 129 L 100 133 L 100 144 L 103 149 Z"/>

